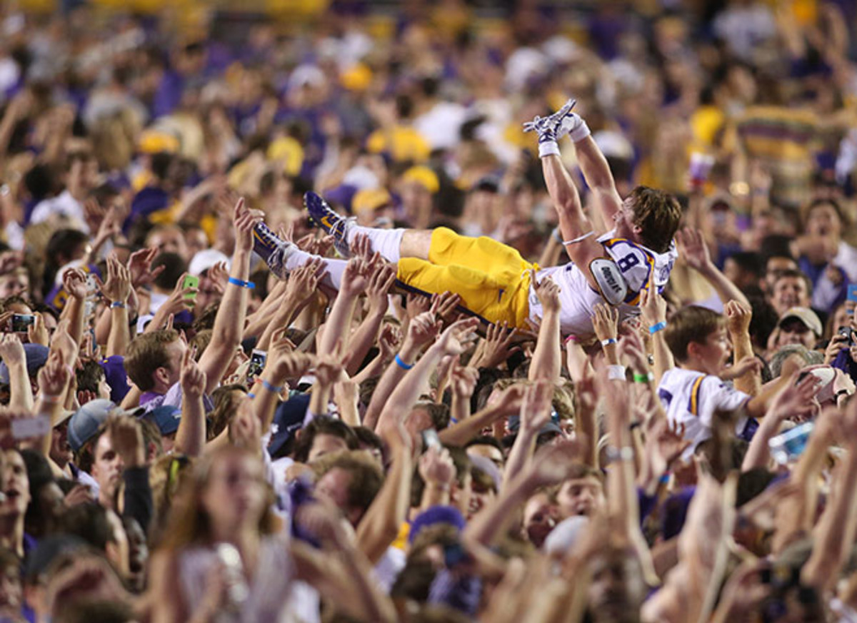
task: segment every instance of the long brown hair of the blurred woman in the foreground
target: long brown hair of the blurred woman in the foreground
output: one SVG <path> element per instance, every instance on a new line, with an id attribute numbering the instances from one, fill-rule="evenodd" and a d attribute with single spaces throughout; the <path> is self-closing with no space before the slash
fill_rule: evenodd
<path id="1" fill-rule="evenodd" d="M 173 501 L 170 519 L 161 542 L 163 549 L 182 549 L 190 544 L 207 544 L 211 542 L 211 524 L 208 514 L 202 507 L 202 493 L 206 490 L 215 463 L 231 456 L 240 456 L 259 460 L 258 455 L 245 448 L 223 446 L 205 454 L 193 467 L 189 478 L 185 478 L 182 490 Z M 257 530 L 261 535 L 272 534 L 275 531 L 276 519 L 273 514 L 273 491 L 266 485 L 268 493 L 265 510 L 259 518 Z M 228 503 L 228 501 L 225 501 Z"/>

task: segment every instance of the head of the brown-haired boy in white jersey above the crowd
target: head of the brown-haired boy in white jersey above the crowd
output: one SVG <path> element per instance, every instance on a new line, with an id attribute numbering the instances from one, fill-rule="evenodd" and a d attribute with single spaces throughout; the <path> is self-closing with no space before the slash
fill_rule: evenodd
<path id="1" fill-rule="evenodd" d="M 678 363 L 706 374 L 719 374 L 732 352 L 724 318 L 704 307 L 680 309 L 663 337 Z"/>

